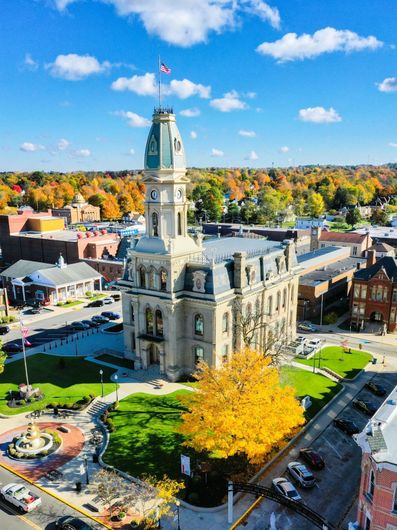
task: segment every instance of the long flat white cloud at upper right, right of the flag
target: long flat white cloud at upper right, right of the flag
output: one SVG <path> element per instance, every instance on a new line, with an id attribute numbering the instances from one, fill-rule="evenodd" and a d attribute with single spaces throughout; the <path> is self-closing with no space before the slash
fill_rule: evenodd
<path id="1" fill-rule="evenodd" d="M 256 51 L 262 55 L 270 55 L 282 63 L 311 59 L 323 53 L 375 50 L 381 46 L 383 43 L 372 35 L 361 37 L 353 31 L 327 27 L 316 31 L 313 35 L 287 33 L 275 42 L 263 42 Z"/>

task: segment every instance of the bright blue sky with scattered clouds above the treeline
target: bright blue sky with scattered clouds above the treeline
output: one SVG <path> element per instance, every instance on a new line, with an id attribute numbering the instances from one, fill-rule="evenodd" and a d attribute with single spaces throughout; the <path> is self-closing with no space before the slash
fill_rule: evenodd
<path id="1" fill-rule="evenodd" d="M 397 161 L 397 2 L 3 0 L 0 170 L 142 167 L 157 104 L 189 166 Z"/>

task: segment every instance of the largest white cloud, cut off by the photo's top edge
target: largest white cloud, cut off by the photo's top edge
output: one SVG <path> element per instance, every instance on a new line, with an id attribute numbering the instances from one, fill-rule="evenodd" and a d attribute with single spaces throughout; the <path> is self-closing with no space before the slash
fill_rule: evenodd
<path id="1" fill-rule="evenodd" d="M 63 11 L 77 0 L 54 0 Z M 146 31 L 182 47 L 206 42 L 212 33 L 234 29 L 243 12 L 279 27 L 280 14 L 263 0 L 102 0 L 120 16 L 136 15 Z"/>

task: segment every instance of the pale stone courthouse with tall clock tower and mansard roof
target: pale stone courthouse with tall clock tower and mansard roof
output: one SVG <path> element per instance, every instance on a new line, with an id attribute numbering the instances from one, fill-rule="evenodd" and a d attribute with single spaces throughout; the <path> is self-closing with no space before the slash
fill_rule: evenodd
<path id="1" fill-rule="evenodd" d="M 190 237 L 185 151 L 175 115 L 156 109 L 144 161 L 146 233 L 132 239 L 123 285 L 125 355 L 178 380 L 204 359 L 220 365 L 243 346 L 295 338 L 294 244 L 264 238 Z M 248 316 L 248 319 L 247 319 Z"/>

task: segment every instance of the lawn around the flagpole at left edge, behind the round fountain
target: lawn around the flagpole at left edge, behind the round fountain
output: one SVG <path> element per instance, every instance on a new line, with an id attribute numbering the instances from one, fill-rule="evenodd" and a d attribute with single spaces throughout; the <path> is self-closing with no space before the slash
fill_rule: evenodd
<path id="1" fill-rule="evenodd" d="M 64 368 L 60 359 L 64 360 Z M 19 414 L 36 409 L 43 409 L 49 403 L 74 403 L 83 396 L 101 394 L 99 368 L 97 364 L 78 357 L 59 357 L 37 354 L 27 358 L 29 381 L 34 388 L 39 387 L 44 393 L 44 399 L 31 403 L 25 407 L 10 408 L 7 405 L 9 390 L 18 390 L 18 385 L 25 382 L 23 360 L 5 365 L 0 374 L 0 413 Z M 104 394 L 115 390 L 114 383 L 109 383 L 114 369 L 102 367 L 105 381 Z"/>

